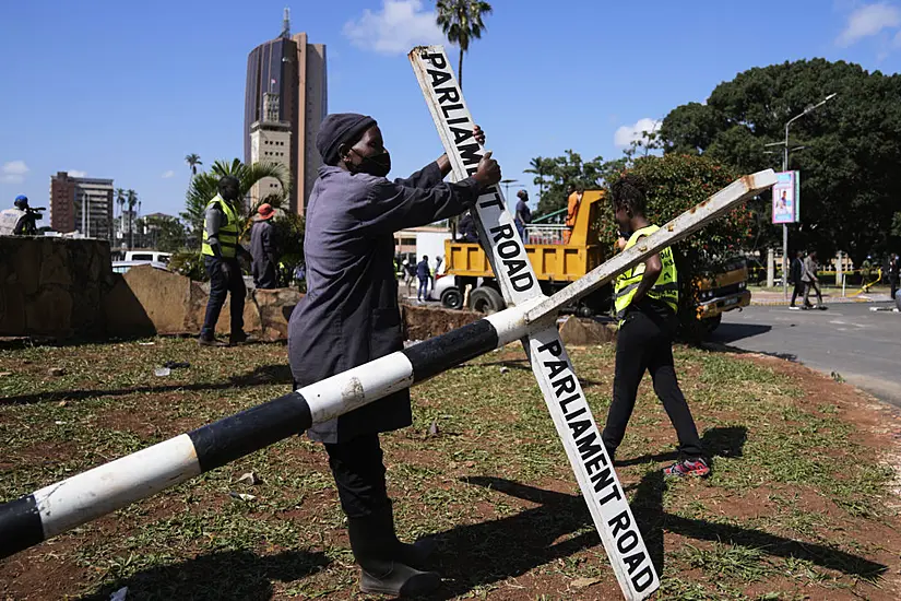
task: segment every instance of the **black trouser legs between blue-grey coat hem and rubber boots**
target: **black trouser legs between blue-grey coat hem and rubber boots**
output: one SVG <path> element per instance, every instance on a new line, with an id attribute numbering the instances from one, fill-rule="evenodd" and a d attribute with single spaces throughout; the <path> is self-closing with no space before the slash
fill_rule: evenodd
<path id="1" fill-rule="evenodd" d="M 384 483 L 379 435 L 363 434 L 346 443 L 324 445 L 344 514 L 353 519 L 388 510 L 391 502 Z"/>

